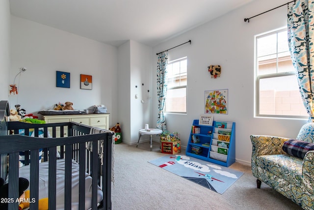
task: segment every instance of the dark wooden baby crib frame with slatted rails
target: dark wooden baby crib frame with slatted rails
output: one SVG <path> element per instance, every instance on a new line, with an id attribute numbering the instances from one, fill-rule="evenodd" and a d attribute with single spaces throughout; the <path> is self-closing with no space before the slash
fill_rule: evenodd
<path id="1" fill-rule="evenodd" d="M 59 128 L 59 129 L 57 129 Z M 92 177 L 92 209 L 111 209 L 111 140 L 112 134 L 100 133 L 89 134 L 92 127 L 76 122 L 62 122 L 49 124 L 30 124 L 24 122 L 7 122 L 7 132 L 18 134 L 24 129 L 25 135 L 6 135 L 0 136 L 0 154 L 9 154 L 9 197 L 18 197 L 18 171 L 19 171 L 19 152 L 30 151 L 31 157 L 38 157 L 38 149 L 43 148 L 44 161 L 49 159 L 49 209 L 56 208 L 56 150 L 61 149 L 61 158 L 65 158 L 65 209 L 71 209 L 71 167 L 72 159 L 79 164 L 79 209 L 84 209 L 85 205 L 85 171 Z M 52 138 L 48 137 L 48 129 L 52 130 Z M 63 137 L 64 129 L 68 130 L 68 137 Z M 43 130 L 44 138 L 39 138 L 39 131 Z M 60 130 L 60 133 L 57 133 Z M 34 132 L 35 137 L 30 137 L 29 133 Z M 54 138 L 60 135 L 60 138 Z M 46 137 L 46 138 L 45 138 Z M 100 166 L 97 152 L 86 151 L 86 142 L 93 142 L 93 151 L 98 150 L 98 141 L 104 140 L 104 164 Z M 9 144 L 8 144 L 9 143 Z M 48 155 L 49 154 L 49 155 Z M 89 158 L 86 158 L 86 155 Z M 26 164 L 30 163 L 30 198 L 38 201 L 38 172 L 39 162 L 37 158 L 30 158 L 25 155 Z M 87 159 L 87 161 L 86 161 Z M 91 170 L 88 171 L 86 166 Z M 102 174 L 102 176 L 100 176 Z M 100 179 L 102 179 L 100 181 Z M 103 201 L 97 207 L 97 185 L 102 183 Z M 95 195 L 95 196 L 94 196 Z M 70 198 L 70 199 L 69 199 Z M 9 209 L 17 209 L 18 204 L 9 204 Z M 37 203 L 30 203 L 30 209 L 38 209 Z"/>

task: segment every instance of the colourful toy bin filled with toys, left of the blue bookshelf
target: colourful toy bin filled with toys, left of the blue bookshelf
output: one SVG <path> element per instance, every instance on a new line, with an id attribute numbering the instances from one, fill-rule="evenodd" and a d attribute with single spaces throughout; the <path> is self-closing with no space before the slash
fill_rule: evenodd
<path id="1" fill-rule="evenodd" d="M 160 151 L 166 154 L 181 152 L 180 134 L 164 132 L 160 135 Z"/>

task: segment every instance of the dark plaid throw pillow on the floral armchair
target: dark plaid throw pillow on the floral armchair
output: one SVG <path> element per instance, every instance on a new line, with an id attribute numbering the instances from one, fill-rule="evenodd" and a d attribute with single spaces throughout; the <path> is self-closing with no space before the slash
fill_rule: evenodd
<path id="1" fill-rule="evenodd" d="M 314 144 L 290 139 L 284 143 L 283 150 L 289 155 L 303 159 L 308 151 L 314 150 Z"/>

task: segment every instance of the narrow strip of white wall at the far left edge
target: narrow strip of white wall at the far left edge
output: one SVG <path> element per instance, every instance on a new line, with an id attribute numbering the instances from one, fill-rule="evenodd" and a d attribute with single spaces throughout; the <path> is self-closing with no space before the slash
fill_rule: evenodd
<path id="1" fill-rule="evenodd" d="M 10 69 L 10 4 L 0 1 L 0 100 L 8 100 Z"/>

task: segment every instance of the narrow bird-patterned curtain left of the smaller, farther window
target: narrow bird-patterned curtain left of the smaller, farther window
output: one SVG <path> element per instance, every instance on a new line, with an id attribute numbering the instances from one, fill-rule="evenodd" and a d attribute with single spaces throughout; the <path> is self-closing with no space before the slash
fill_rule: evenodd
<path id="1" fill-rule="evenodd" d="M 166 118 L 163 114 L 166 93 L 167 93 L 167 65 L 168 65 L 168 51 L 162 52 L 158 55 L 157 63 L 157 98 L 158 98 L 158 119 L 157 128 L 162 131 L 167 130 Z"/>

